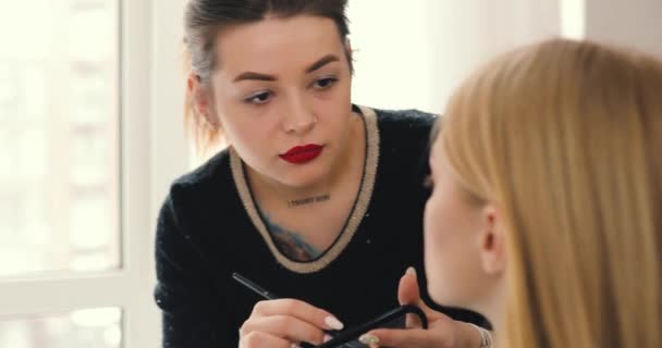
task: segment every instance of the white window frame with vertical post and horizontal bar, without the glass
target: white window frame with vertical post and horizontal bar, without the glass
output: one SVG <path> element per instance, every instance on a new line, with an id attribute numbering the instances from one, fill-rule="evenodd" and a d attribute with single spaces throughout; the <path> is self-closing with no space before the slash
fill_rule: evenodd
<path id="1" fill-rule="evenodd" d="M 156 219 L 170 183 L 188 163 L 181 116 L 184 2 L 120 1 L 122 266 L 0 277 L 0 320 L 118 307 L 122 347 L 160 347 L 152 298 Z"/>

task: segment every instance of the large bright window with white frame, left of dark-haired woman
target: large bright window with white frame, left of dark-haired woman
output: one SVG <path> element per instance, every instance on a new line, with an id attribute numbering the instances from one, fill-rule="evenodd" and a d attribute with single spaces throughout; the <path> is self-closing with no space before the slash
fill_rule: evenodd
<path id="1" fill-rule="evenodd" d="M 158 346 L 152 11 L 0 3 L 0 347 Z"/>

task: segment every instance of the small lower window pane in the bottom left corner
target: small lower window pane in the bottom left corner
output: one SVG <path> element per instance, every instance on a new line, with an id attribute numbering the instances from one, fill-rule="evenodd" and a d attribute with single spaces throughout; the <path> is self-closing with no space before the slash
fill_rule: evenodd
<path id="1" fill-rule="evenodd" d="M 122 311 L 118 308 L 0 320 L 0 347 L 119 348 L 121 346 Z"/>

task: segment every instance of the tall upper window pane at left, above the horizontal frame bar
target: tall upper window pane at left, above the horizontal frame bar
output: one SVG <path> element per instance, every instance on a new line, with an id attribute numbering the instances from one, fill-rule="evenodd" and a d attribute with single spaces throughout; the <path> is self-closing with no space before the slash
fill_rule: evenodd
<path id="1" fill-rule="evenodd" d="M 0 1 L 0 276 L 119 266 L 118 8 Z"/>

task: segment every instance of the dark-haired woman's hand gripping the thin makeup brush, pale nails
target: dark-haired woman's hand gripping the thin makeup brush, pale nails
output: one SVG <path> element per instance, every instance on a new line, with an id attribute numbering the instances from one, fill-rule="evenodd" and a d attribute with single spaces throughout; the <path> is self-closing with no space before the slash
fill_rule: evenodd
<path id="1" fill-rule="evenodd" d="M 320 345 L 323 331 L 342 330 L 331 313 L 295 299 L 260 301 L 240 328 L 240 348 L 291 348 L 301 343 Z"/>

